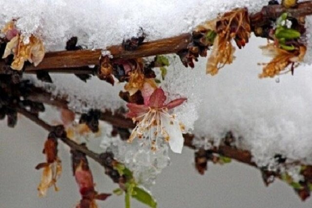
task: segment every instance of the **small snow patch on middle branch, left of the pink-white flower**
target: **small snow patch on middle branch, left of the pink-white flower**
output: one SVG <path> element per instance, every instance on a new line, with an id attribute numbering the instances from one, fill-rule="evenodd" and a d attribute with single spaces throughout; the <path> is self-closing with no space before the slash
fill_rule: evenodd
<path id="1" fill-rule="evenodd" d="M 43 83 L 32 78 L 37 86 L 43 86 L 55 96 L 65 96 L 69 107 L 75 112 L 86 112 L 89 109 L 116 110 L 125 107 L 125 102 L 120 99 L 119 91 L 123 89 L 123 83 L 109 83 L 92 77 L 84 83 L 78 77 L 70 74 L 51 74 L 53 83 Z"/>

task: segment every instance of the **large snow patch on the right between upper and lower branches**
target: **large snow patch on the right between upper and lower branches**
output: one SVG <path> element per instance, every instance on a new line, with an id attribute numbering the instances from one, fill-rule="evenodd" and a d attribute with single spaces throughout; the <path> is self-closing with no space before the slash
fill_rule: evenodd
<path id="1" fill-rule="evenodd" d="M 203 100 L 195 134 L 218 144 L 232 131 L 236 138 L 242 137 L 240 146 L 251 150 L 259 166 L 270 164 L 277 153 L 312 163 L 312 71 L 298 67 L 294 76 L 279 76 L 279 83 L 258 79 L 262 67 L 257 62 L 269 61 L 261 55 L 259 44 L 266 40 L 252 37 L 243 50 L 236 51 L 232 65 L 214 77 L 205 76 L 195 88 Z"/>

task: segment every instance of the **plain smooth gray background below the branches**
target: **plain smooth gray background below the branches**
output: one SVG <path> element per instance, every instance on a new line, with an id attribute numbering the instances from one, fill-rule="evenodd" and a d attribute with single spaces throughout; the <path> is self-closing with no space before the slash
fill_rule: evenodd
<path id="1" fill-rule="evenodd" d="M 79 200 L 72 176 L 68 149 L 59 145 L 63 173 L 59 192 L 48 191 L 37 197 L 41 171 L 35 166 L 44 161 L 41 153 L 47 132 L 20 117 L 14 129 L 0 122 L 0 208 L 72 208 Z M 96 146 L 99 140 L 94 141 Z M 103 169 L 89 160 L 97 190 L 111 192 L 117 187 Z M 210 164 L 204 176 L 194 167 L 194 151 L 183 149 L 182 155 L 171 155 L 172 165 L 158 176 L 152 191 L 159 208 L 311 208 L 312 200 L 301 202 L 287 184 L 275 181 L 265 187 L 260 172 L 236 162 L 219 166 Z M 133 208 L 144 208 L 132 201 Z M 99 207 L 122 208 L 123 196 L 112 196 Z"/>

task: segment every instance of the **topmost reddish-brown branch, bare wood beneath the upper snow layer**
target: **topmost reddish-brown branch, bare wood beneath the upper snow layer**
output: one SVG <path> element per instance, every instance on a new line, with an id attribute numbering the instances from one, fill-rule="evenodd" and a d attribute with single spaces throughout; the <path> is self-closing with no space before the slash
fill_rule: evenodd
<path id="1" fill-rule="evenodd" d="M 292 14 L 293 17 L 301 17 L 312 14 L 312 1 L 298 3 L 295 8 L 286 9 L 281 5 L 264 6 L 260 12 L 250 15 L 251 26 L 263 25 L 271 18 L 277 18 L 285 11 Z M 191 34 L 185 33 L 173 38 L 161 39 L 151 42 L 144 42 L 135 51 L 126 51 L 122 45 L 109 46 L 106 49 L 111 52 L 114 59 L 132 59 L 139 57 L 148 57 L 161 54 L 176 53 L 187 49 L 191 40 Z M 46 53 L 43 61 L 37 66 L 27 66 L 25 71 L 32 72 L 36 70 L 51 69 L 53 72 L 62 73 L 91 73 L 79 67 L 88 65 L 98 65 L 101 57 L 101 49 L 96 50 L 76 50 L 76 51 L 58 51 Z M 0 61 L 0 72 L 4 71 L 5 63 Z M 71 68 L 71 69 L 68 69 Z"/>

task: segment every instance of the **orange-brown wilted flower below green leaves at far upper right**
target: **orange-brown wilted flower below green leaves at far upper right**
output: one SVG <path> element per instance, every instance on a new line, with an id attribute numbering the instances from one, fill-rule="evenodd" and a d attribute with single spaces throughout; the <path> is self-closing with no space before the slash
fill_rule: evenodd
<path id="1" fill-rule="evenodd" d="M 274 43 L 268 43 L 268 45 L 261 46 L 260 48 L 264 55 L 273 57 L 273 60 L 264 64 L 263 72 L 259 75 L 259 78 L 279 75 L 289 65 L 292 65 L 290 71 L 293 71 L 293 64 L 295 62 L 301 62 L 307 50 L 306 46 L 300 45 L 295 50 L 288 51 L 277 47 Z"/>

